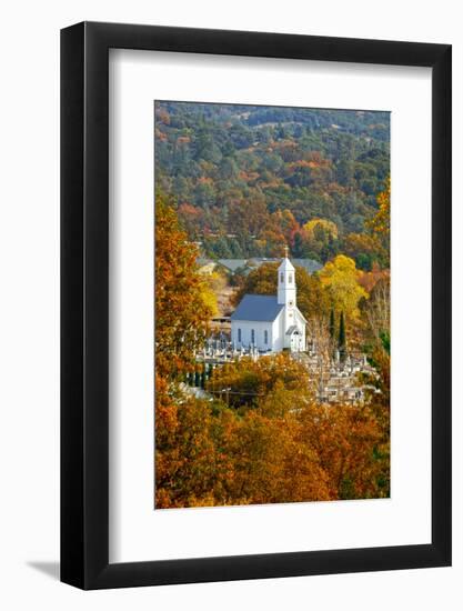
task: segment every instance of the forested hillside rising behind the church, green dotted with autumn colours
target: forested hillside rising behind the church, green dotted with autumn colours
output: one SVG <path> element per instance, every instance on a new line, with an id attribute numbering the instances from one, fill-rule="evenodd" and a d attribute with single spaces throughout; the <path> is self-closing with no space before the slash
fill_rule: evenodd
<path id="1" fill-rule="evenodd" d="M 212 258 L 387 266 L 365 237 L 390 172 L 389 112 L 155 103 L 157 189 Z"/>

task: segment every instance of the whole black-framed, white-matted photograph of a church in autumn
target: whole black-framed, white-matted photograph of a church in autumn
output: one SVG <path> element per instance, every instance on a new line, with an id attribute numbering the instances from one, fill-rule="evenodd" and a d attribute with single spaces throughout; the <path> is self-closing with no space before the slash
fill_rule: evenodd
<path id="1" fill-rule="evenodd" d="M 61 32 L 61 580 L 451 564 L 451 47 Z"/>

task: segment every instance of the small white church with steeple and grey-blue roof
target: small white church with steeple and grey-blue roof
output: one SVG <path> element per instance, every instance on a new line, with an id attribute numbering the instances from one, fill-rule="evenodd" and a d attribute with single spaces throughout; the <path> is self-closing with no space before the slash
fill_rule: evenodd
<path id="1" fill-rule="evenodd" d="M 295 296 L 295 273 L 286 251 L 278 269 L 278 294 L 245 294 L 231 315 L 234 345 L 260 352 L 304 351 L 306 320 Z"/>

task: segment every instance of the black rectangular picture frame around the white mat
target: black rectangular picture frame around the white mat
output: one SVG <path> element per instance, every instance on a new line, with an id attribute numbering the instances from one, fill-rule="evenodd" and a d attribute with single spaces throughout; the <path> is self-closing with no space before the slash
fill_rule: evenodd
<path id="1" fill-rule="evenodd" d="M 109 562 L 109 49 L 432 68 L 432 542 Z M 451 564 L 451 46 L 82 22 L 61 31 L 61 581 L 120 588 Z"/>

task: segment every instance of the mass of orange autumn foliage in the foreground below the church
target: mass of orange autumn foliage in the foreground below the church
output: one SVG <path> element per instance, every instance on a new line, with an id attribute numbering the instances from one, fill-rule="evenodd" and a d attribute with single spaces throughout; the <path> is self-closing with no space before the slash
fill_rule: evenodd
<path id="1" fill-rule="evenodd" d="M 157 507 L 387 497 L 380 402 L 321 405 L 306 375 L 285 354 L 217 369 L 211 388 L 240 397 L 234 409 L 217 393 L 211 403 L 163 389 L 169 418 L 157 432 Z"/>

